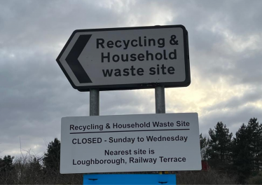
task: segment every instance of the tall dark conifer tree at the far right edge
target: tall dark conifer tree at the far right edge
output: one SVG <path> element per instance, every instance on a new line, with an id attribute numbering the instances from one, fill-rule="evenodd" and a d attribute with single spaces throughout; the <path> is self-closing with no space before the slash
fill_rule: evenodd
<path id="1" fill-rule="evenodd" d="M 262 124 L 250 118 L 242 124 L 233 139 L 233 167 L 239 182 L 246 183 L 251 174 L 258 174 L 262 165 Z"/>

